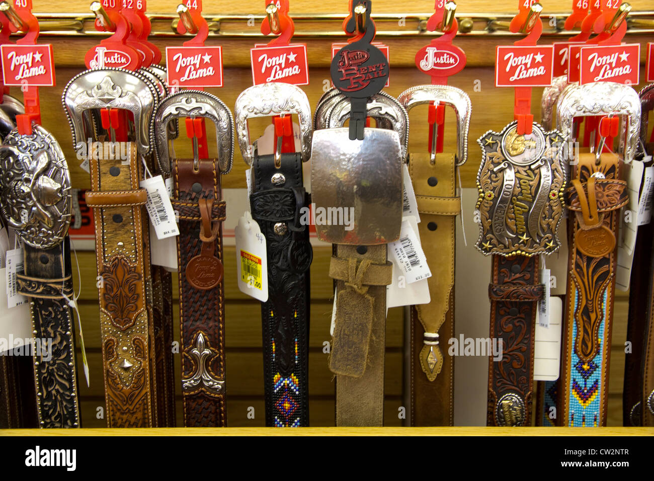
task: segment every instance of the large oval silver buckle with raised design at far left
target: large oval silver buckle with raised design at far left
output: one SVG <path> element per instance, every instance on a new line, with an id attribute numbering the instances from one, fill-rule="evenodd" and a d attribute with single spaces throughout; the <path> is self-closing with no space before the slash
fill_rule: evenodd
<path id="1" fill-rule="evenodd" d="M 12 130 L 0 146 L 0 207 L 7 224 L 37 249 L 59 245 L 71 222 L 71 177 L 56 139 L 38 124 Z"/>

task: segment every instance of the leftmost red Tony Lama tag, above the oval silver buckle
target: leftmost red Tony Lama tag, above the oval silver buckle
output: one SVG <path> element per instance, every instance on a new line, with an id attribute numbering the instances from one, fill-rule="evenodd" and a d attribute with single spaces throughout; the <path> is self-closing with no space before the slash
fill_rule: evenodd
<path id="1" fill-rule="evenodd" d="M 6 44 L 0 46 L 0 50 L 5 85 L 54 86 L 52 45 Z"/>

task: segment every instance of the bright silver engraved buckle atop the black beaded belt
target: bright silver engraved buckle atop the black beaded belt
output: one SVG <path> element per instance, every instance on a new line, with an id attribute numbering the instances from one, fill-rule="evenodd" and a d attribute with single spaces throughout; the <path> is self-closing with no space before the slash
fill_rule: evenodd
<path id="1" fill-rule="evenodd" d="M 282 82 L 268 82 L 243 90 L 234 106 L 236 134 L 246 164 L 251 166 L 254 160 L 254 148 L 250 143 L 247 119 L 284 114 L 298 115 L 302 162 L 307 162 L 311 158 L 313 123 L 311 121 L 311 105 L 309 105 L 307 95 L 298 86 Z"/>

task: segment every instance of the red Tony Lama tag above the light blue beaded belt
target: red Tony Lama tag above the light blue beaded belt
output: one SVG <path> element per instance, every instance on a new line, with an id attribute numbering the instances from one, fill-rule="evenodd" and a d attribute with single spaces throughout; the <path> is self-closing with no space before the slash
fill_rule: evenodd
<path id="1" fill-rule="evenodd" d="M 639 82 L 640 44 L 584 46 L 581 48 L 579 81 L 617 82 L 637 85 Z"/>

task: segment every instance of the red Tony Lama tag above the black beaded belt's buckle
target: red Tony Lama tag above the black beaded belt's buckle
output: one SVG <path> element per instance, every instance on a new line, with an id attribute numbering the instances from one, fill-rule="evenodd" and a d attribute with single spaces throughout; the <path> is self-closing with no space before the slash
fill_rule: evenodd
<path id="1" fill-rule="evenodd" d="M 284 46 L 255 46 L 250 48 L 252 82 L 286 84 L 309 84 L 307 46 L 303 43 Z"/>

